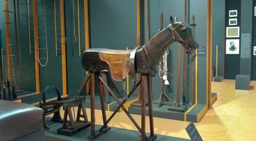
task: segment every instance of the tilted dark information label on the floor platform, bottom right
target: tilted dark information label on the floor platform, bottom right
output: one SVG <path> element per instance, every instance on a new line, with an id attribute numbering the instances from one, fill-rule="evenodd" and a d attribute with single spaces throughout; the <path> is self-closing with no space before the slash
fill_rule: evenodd
<path id="1" fill-rule="evenodd" d="M 186 127 L 186 131 L 192 141 L 203 141 L 193 122 L 189 123 L 189 125 Z"/>

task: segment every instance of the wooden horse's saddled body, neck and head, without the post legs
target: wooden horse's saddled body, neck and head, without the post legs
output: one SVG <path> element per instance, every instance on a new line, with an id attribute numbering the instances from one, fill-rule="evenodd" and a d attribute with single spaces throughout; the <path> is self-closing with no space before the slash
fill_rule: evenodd
<path id="1" fill-rule="evenodd" d="M 116 81 L 125 79 L 130 71 L 155 76 L 156 66 L 161 62 L 164 52 L 175 41 L 183 44 L 188 54 L 194 53 L 198 48 L 189 25 L 176 22 L 164 28 L 144 46 L 134 49 L 134 57 L 131 56 L 132 50 L 88 49 L 83 52 L 82 66 L 85 71 L 108 70 Z M 131 60 L 132 58 L 134 60 Z"/>

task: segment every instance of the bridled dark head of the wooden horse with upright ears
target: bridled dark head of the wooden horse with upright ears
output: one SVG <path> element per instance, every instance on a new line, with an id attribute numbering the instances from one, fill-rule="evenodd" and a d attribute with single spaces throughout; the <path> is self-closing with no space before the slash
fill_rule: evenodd
<path id="1" fill-rule="evenodd" d="M 173 17 L 170 17 L 170 22 L 169 30 L 173 34 L 173 39 L 182 44 L 187 54 L 195 55 L 199 45 L 194 39 L 190 26 L 184 22 L 177 22 L 177 18 L 174 22 Z"/>

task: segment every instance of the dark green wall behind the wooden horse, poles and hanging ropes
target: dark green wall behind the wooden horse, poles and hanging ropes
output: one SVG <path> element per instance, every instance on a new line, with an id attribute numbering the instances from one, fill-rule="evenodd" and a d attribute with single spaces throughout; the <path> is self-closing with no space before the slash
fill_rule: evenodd
<path id="1" fill-rule="evenodd" d="M 40 2 L 41 0 L 39 0 Z M 20 32 L 22 42 L 22 82 L 23 89 L 35 91 L 35 63 L 34 55 L 29 55 L 28 49 L 28 31 L 27 31 L 27 7 L 24 5 L 26 0 L 20 0 Z M 141 9 L 143 9 L 143 2 Z M 169 25 L 169 15 L 177 16 L 180 21 L 183 20 L 184 1 L 177 0 L 150 0 L 150 35 L 153 36 L 155 31 L 160 28 L 160 12 L 164 14 L 164 27 Z M 200 3 L 200 10 L 198 10 Z M 23 4 L 23 5 L 22 5 Z M 61 48 L 59 43 L 60 38 L 60 21 L 59 21 L 59 0 L 56 1 L 57 11 L 57 33 L 58 33 L 58 48 Z M 90 12 L 90 47 L 104 47 L 109 49 L 130 49 L 136 46 L 137 38 L 137 1 L 116 1 L 116 0 L 91 0 L 89 1 Z M 207 44 L 207 1 L 188 1 L 188 18 L 195 15 L 195 39 L 203 49 L 206 49 Z M 38 12 L 41 12 L 38 7 Z M 61 71 L 61 55 L 55 55 L 55 33 L 54 33 L 54 7 L 52 1 L 46 1 L 46 15 L 48 26 L 48 48 L 49 62 L 46 67 L 40 67 L 41 89 L 54 84 L 59 89 L 62 89 L 62 71 Z M 142 12 L 142 43 L 145 36 L 144 12 Z M 25 15 L 25 16 L 21 16 Z M 30 5 L 30 16 L 32 17 L 32 5 Z M 81 48 L 85 48 L 85 31 L 83 19 L 83 1 L 80 1 L 80 43 Z M 67 50 L 67 84 L 68 93 L 74 94 L 82 83 L 85 77 L 85 72 L 80 65 L 79 44 L 73 43 L 73 21 L 72 21 L 72 1 L 65 1 L 65 22 L 66 22 L 66 50 Z M 190 19 L 188 19 L 189 21 Z M 1 22 L 1 21 L 0 21 Z M 43 21 L 40 20 L 40 24 Z M 33 21 L 31 18 L 31 41 L 33 44 Z M 75 1 L 75 29 L 78 39 L 77 25 L 77 1 Z M 41 34 L 41 33 L 40 33 Z M 217 40 L 217 39 L 216 39 Z M 45 46 L 43 42 L 40 46 Z M 207 52 L 207 50 L 205 50 Z M 205 54 L 198 55 L 198 103 L 206 103 L 206 74 L 207 61 Z M 43 55 L 43 54 L 41 54 Z M 177 44 L 174 43 L 169 49 L 168 70 L 173 74 L 169 77 L 173 94 L 170 94 L 173 99 L 176 99 L 177 85 Z M 182 68 L 181 68 L 182 70 Z M 189 70 L 187 70 L 188 74 Z M 182 80 L 182 78 L 181 78 Z M 118 83 L 119 87 L 122 83 Z M 131 86 L 132 84 L 130 84 Z M 182 81 L 181 81 L 182 87 Z M 160 93 L 160 78 L 153 78 L 153 95 Z M 187 89 L 190 92 L 190 76 L 187 76 Z M 181 91 L 182 95 L 182 91 Z M 190 94 L 187 94 L 187 97 Z"/>

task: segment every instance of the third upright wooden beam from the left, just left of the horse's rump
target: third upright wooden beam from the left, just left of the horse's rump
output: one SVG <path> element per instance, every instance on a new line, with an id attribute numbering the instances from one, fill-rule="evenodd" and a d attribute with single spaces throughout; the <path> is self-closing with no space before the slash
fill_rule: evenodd
<path id="1" fill-rule="evenodd" d="M 61 13 L 61 60 L 62 60 L 62 94 L 67 95 L 66 33 L 64 0 L 59 1 Z"/>

